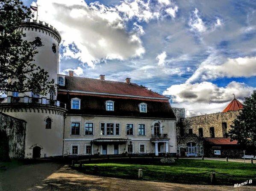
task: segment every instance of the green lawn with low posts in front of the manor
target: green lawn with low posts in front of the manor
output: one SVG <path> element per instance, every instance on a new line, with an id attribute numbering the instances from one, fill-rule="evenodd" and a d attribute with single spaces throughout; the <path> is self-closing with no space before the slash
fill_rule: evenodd
<path id="1" fill-rule="evenodd" d="M 218 185 L 232 185 L 250 179 L 253 180 L 253 185 L 256 185 L 256 165 L 248 163 L 185 159 L 177 159 L 172 165 L 163 165 L 160 159 L 116 159 L 91 162 L 94 163 L 83 164 L 82 171 L 85 174 L 138 179 L 138 168 L 142 168 L 144 175 L 143 180 L 209 184 L 210 173 L 200 173 L 216 171 L 230 176 L 237 176 L 229 177 L 216 173 L 216 184 Z M 98 172 L 93 170 L 94 165 L 99 166 Z M 78 165 L 76 165 L 76 167 L 78 167 Z"/>

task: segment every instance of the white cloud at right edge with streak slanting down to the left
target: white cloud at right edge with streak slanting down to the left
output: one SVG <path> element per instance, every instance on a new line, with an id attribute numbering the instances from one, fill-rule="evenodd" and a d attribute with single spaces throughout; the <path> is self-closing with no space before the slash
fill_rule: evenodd
<path id="1" fill-rule="evenodd" d="M 222 77 L 256 76 L 255 63 L 256 57 L 224 58 L 215 52 L 200 64 L 186 83 Z"/>

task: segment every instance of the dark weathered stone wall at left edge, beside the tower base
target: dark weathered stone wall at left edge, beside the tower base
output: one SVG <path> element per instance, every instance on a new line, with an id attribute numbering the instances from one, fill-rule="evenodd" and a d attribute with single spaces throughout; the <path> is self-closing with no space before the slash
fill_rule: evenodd
<path id="1" fill-rule="evenodd" d="M 0 112 L 0 160 L 24 158 L 26 121 Z"/>

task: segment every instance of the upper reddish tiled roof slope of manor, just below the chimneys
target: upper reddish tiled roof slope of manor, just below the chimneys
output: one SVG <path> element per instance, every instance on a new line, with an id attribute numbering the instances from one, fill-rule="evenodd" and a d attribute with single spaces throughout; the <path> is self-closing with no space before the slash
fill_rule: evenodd
<path id="1" fill-rule="evenodd" d="M 124 82 L 115 82 L 109 80 L 101 81 L 98 79 L 86 77 L 63 77 L 65 77 L 65 86 L 59 86 L 59 89 L 107 94 L 123 94 L 143 97 L 156 97 L 165 99 L 168 98 L 153 91 L 147 90 L 146 88 L 143 88 L 135 83 L 127 84 Z"/>

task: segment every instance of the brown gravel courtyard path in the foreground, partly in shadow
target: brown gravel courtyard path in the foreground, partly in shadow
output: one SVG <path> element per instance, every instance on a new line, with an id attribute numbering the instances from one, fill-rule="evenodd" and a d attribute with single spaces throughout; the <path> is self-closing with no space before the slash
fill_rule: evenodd
<path id="1" fill-rule="evenodd" d="M 239 183 L 239 182 L 238 182 Z M 40 163 L 0 172 L 0 191 L 255 191 L 256 187 L 187 185 L 79 173 L 68 165 Z"/>

